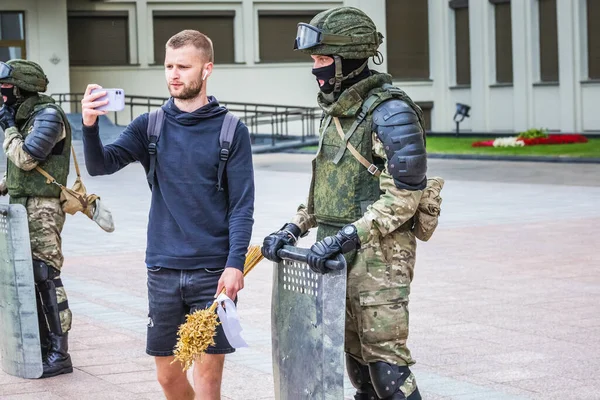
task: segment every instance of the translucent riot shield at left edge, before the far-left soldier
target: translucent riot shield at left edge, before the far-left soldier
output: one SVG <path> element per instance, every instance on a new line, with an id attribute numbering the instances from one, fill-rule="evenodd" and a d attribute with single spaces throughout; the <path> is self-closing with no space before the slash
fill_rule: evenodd
<path id="1" fill-rule="evenodd" d="M 27 211 L 0 204 L 0 366 L 21 378 L 42 376 Z"/>

